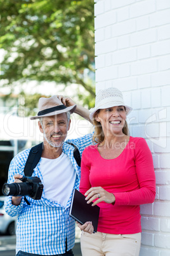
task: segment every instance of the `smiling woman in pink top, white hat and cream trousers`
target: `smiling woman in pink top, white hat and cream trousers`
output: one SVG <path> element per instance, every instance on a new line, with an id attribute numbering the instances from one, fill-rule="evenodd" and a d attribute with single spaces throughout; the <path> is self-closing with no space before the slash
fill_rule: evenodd
<path id="1" fill-rule="evenodd" d="M 83 256 L 137 256 L 140 253 L 140 204 L 155 199 L 152 154 L 143 138 L 129 136 L 126 116 L 132 109 L 115 88 L 96 95 L 90 118 L 96 145 L 82 153 L 80 192 L 87 203 L 100 206 L 98 232 L 82 230 Z"/>

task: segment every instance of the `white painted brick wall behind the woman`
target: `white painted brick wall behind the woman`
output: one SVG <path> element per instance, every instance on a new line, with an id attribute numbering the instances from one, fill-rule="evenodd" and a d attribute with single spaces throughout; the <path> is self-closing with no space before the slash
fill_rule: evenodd
<path id="1" fill-rule="evenodd" d="M 170 0 L 95 1 L 96 92 L 117 87 L 133 107 L 132 136 L 147 139 L 157 182 L 141 206 L 140 256 L 170 255 Z"/>

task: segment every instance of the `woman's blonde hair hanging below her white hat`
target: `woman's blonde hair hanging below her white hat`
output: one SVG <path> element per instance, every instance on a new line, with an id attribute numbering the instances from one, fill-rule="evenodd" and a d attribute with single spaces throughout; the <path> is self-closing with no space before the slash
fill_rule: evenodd
<path id="1" fill-rule="evenodd" d="M 105 138 L 105 135 L 103 133 L 103 129 L 102 129 L 102 126 L 101 126 L 100 122 L 96 121 L 96 119 L 95 119 L 96 115 L 99 112 L 100 112 L 100 110 L 97 110 L 95 115 L 93 116 L 93 126 L 95 127 L 95 132 L 93 134 L 93 141 L 95 143 L 101 143 Z M 125 120 L 125 123 L 124 123 L 124 127 L 122 129 L 122 132 L 125 135 L 129 135 L 129 128 L 128 128 L 128 123 L 126 122 L 126 120 Z"/>

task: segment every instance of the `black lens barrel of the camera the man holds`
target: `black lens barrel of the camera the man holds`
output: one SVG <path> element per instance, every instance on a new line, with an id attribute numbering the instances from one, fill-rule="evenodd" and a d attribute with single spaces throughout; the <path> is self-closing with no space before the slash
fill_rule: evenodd
<path id="1" fill-rule="evenodd" d="M 32 186 L 29 183 L 5 183 L 3 185 L 4 196 L 29 196 L 32 191 Z"/>

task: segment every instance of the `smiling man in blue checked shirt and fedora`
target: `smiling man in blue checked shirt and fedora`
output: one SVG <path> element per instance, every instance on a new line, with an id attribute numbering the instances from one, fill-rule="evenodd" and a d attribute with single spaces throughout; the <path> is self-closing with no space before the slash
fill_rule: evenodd
<path id="1" fill-rule="evenodd" d="M 10 216 L 18 215 L 16 255 L 74 255 L 75 221 L 69 216 L 74 188 L 79 188 L 80 167 L 74 158 L 74 146 L 65 142 L 70 129 L 70 113 L 89 120 L 89 111 L 76 106 L 69 97 L 53 96 L 39 99 L 39 129 L 43 134 L 41 159 L 32 176 L 42 181 L 40 200 L 26 196 L 6 197 L 5 209 Z M 69 140 L 80 154 L 91 144 L 92 136 Z M 8 183 L 21 182 L 30 149 L 11 160 Z"/>

